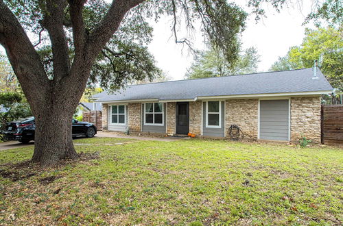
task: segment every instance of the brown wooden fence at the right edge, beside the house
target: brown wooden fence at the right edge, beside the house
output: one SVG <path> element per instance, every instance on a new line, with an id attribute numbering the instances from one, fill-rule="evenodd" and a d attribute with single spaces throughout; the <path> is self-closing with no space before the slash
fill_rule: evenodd
<path id="1" fill-rule="evenodd" d="M 322 143 L 343 146 L 343 105 L 322 105 Z"/>

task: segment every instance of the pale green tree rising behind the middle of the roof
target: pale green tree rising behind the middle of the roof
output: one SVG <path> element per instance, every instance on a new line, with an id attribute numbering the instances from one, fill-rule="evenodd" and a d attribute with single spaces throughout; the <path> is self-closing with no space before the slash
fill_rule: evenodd
<path id="1" fill-rule="evenodd" d="M 198 51 L 186 77 L 195 79 L 254 73 L 257 70 L 259 57 L 257 49 L 254 47 L 240 53 L 237 59 L 230 60 L 227 60 L 228 58 L 215 48 L 208 51 Z"/>

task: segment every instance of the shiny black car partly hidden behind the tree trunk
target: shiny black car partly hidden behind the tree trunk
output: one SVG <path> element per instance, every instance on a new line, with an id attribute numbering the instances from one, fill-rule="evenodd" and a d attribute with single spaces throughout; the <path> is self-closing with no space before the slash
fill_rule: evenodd
<path id="1" fill-rule="evenodd" d="M 73 119 L 72 121 L 72 133 L 73 137 L 86 136 L 92 138 L 97 134 L 97 127 L 93 123 L 81 122 Z M 18 140 L 19 142 L 27 143 L 34 140 L 34 130 L 36 125 L 34 123 L 34 117 L 23 118 L 19 121 L 13 121 L 6 123 L 5 131 L 3 135 L 8 140 Z"/>

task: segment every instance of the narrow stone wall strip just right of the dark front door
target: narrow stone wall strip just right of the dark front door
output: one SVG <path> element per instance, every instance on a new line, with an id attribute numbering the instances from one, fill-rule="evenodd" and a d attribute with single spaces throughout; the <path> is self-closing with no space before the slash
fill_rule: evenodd
<path id="1" fill-rule="evenodd" d="M 201 134 L 202 101 L 189 102 L 189 132 L 198 136 Z"/>

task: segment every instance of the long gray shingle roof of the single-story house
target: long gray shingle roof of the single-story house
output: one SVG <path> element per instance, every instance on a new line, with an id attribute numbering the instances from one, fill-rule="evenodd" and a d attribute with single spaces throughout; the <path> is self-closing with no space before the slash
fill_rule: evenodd
<path id="1" fill-rule="evenodd" d="M 320 71 L 317 71 L 317 76 L 318 79 L 312 79 L 314 69 L 305 68 L 227 77 L 187 79 L 132 85 L 114 94 L 102 92 L 93 97 L 98 98 L 97 101 L 99 102 L 138 99 L 158 99 L 163 101 L 196 99 L 196 97 L 333 90 L 329 81 Z"/>

